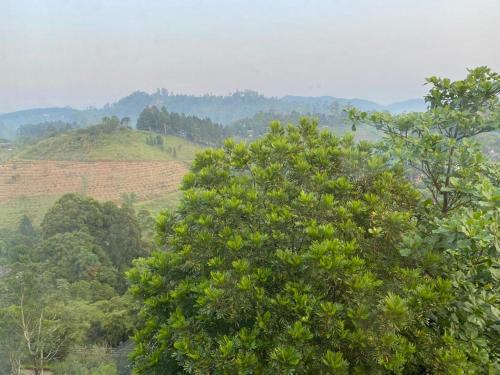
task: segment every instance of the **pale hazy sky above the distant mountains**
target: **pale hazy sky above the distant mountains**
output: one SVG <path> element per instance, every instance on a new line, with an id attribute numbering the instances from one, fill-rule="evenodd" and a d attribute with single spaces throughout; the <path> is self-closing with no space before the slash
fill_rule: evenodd
<path id="1" fill-rule="evenodd" d="M 500 0 L 0 0 L 0 112 L 135 90 L 419 97 L 500 71 Z"/>

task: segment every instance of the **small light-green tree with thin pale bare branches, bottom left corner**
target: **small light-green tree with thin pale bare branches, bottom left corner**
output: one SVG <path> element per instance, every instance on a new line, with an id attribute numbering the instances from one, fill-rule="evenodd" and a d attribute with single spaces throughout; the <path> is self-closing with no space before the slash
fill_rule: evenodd
<path id="1" fill-rule="evenodd" d="M 40 369 L 85 337 L 88 309 L 68 305 L 67 283 L 42 266 L 13 265 L 0 281 L 0 336 L 20 363 Z"/>

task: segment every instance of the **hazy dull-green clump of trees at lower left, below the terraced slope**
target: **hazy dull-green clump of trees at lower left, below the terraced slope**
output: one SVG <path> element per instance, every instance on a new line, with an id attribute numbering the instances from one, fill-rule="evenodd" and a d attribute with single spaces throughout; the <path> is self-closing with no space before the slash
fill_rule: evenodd
<path id="1" fill-rule="evenodd" d="M 24 218 L 2 238 L 0 358 L 10 371 L 40 371 L 65 359 L 62 373 L 114 371 L 111 362 L 86 368 L 71 353 L 120 345 L 132 332 L 136 318 L 130 298 L 120 295 L 118 268 L 144 254 L 134 211 L 71 194 L 49 210 L 40 235 Z"/>

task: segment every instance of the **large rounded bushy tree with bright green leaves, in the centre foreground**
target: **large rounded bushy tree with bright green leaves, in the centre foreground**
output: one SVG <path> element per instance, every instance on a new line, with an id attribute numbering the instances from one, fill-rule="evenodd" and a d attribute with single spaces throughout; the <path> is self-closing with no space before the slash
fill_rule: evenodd
<path id="1" fill-rule="evenodd" d="M 199 154 L 183 190 L 128 274 L 136 371 L 416 374 L 455 350 L 429 324 L 451 283 L 398 251 L 420 195 L 371 146 L 273 123 Z"/>

